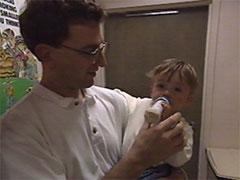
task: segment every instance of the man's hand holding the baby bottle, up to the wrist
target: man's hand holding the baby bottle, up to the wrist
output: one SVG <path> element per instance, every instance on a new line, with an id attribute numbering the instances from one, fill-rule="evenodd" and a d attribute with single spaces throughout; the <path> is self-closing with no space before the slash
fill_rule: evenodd
<path id="1" fill-rule="evenodd" d="M 130 151 L 141 158 L 142 163 L 151 166 L 181 151 L 184 147 L 183 123 L 181 114 L 175 113 L 168 119 L 150 128 L 143 125 Z"/>

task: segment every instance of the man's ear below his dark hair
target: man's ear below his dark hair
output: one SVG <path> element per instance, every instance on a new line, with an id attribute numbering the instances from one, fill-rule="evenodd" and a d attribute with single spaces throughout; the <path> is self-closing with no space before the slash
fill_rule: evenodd
<path id="1" fill-rule="evenodd" d="M 47 44 L 38 44 L 35 47 L 35 54 L 41 62 L 49 61 L 52 47 Z"/>

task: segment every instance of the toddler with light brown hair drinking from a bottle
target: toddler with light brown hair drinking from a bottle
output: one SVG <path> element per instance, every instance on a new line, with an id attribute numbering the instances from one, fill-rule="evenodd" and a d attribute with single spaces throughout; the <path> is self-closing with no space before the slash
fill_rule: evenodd
<path id="1" fill-rule="evenodd" d="M 188 107 L 193 101 L 194 92 L 198 86 L 195 69 L 190 64 L 175 58 L 164 60 L 163 63 L 154 67 L 147 76 L 151 79 L 152 100 L 146 100 L 143 102 L 142 108 L 133 112 L 134 118 L 128 122 L 123 140 L 123 153 L 127 152 L 132 146 L 135 136 L 137 136 L 144 121 L 149 123 L 150 128 L 154 123 L 161 121 L 161 116 L 164 116 L 162 119 L 166 118 L 166 113 L 160 114 L 161 109 L 164 111 L 165 108 L 169 108 L 171 110 L 170 114 L 173 114 Z M 159 107 L 159 112 L 154 114 L 152 105 L 157 103 L 156 101 L 159 98 L 162 101 L 162 107 Z M 156 108 L 154 110 L 156 111 Z M 168 113 L 168 115 L 170 114 Z M 180 167 L 190 160 L 193 145 L 192 128 L 184 119 L 182 121 L 184 121 L 184 138 L 186 141 L 184 149 L 167 158 L 164 162 L 150 167 L 144 171 L 139 179 L 147 180 L 161 177 L 178 179 L 176 167 Z"/>

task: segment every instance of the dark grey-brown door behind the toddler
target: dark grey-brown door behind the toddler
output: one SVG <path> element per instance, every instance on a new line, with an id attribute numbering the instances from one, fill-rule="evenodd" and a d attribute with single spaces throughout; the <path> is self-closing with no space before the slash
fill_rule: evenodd
<path id="1" fill-rule="evenodd" d="M 146 97 L 150 82 L 145 74 L 162 60 L 175 57 L 196 68 L 200 81 L 196 98 L 182 113 L 194 129 L 193 157 L 184 169 L 189 179 L 197 179 L 208 6 L 171 10 L 178 13 L 146 16 L 149 12 L 128 12 L 108 16 L 104 28 L 109 42 L 106 87 Z"/>

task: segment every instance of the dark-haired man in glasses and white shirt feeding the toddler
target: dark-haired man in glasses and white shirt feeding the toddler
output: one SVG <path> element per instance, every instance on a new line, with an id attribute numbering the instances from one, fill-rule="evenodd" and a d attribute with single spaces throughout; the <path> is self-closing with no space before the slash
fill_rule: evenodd
<path id="1" fill-rule="evenodd" d="M 2 179 L 129 179 L 184 147 L 181 115 L 147 128 L 121 156 L 129 117 L 144 99 L 93 86 L 106 65 L 103 11 L 76 0 L 32 0 L 20 15 L 40 84 L 1 121 Z"/>

